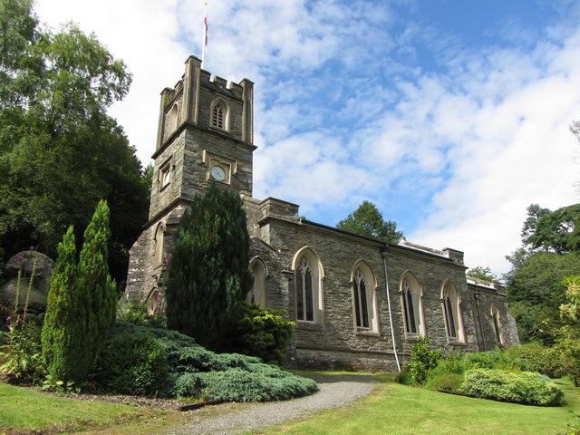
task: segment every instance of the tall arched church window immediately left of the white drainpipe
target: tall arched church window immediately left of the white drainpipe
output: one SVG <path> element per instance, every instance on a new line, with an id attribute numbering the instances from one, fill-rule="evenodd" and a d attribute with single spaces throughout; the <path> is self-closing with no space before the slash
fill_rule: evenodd
<path id="1" fill-rule="evenodd" d="M 378 331 L 378 311 L 376 304 L 376 279 L 371 269 L 363 261 L 357 263 L 352 275 L 353 312 L 356 330 Z"/>

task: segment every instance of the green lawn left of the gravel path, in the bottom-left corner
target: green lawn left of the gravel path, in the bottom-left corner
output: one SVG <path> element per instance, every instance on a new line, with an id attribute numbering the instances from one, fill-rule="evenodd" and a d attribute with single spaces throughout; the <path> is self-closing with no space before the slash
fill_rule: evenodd
<path id="1" fill-rule="evenodd" d="M 102 430 L 163 419 L 159 411 L 54 397 L 3 382 L 0 382 L 0 410 L 0 433 L 14 434 Z"/>

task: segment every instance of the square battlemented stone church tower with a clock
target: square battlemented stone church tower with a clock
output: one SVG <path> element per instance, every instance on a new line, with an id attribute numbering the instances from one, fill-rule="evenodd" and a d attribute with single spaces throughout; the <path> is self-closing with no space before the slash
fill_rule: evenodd
<path id="1" fill-rule="evenodd" d="M 127 297 L 159 299 L 179 219 L 215 182 L 252 196 L 254 83 L 214 77 L 190 56 L 185 73 L 161 92 L 149 221 L 130 250 Z"/>

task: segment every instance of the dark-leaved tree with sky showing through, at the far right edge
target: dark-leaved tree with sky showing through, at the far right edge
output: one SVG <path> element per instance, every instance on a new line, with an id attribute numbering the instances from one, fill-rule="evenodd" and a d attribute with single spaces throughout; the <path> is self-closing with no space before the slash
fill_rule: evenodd
<path id="1" fill-rule="evenodd" d="M 522 229 L 522 241 L 530 251 L 565 254 L 580 250 L 580 204 L 556 211 L 532 204 Z"/>

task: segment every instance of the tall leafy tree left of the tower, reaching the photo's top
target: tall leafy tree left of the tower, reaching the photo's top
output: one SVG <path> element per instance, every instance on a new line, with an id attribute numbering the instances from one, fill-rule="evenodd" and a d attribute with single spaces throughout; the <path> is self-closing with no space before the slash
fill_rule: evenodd
<path id="1" fill-rule="evenodd" d="M 111 271 L 124 279 L 150 184 L 106 111 L 128 92 L 131 74 L 94 34 L 73 24 L 39 30 L 31 4 L 0 0 L 0 244 L 5 255 L 35 246 L 54 256 L 70 225 L 81 240 L 105 198 Z"/>

